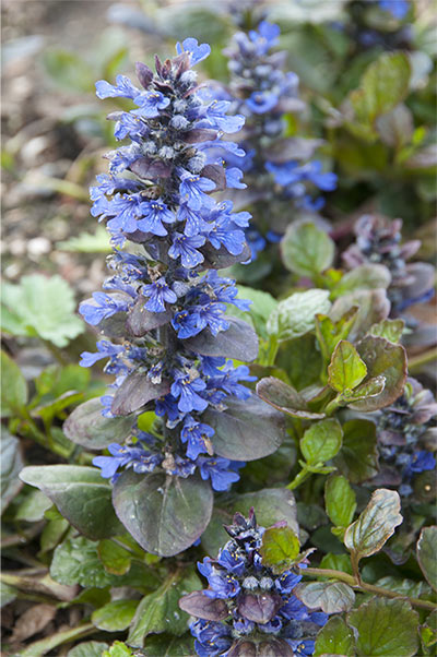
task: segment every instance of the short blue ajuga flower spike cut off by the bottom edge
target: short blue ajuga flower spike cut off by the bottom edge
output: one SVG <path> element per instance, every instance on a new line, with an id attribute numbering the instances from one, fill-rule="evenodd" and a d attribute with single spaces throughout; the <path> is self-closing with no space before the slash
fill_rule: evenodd
<path id="1" fill-rule="evenodd" d="M 253 509 L 248 518 L 237 513 L 225 529 L 231 540 L 217 558 L 198 563 L 209 587 L 179 600 L 197 618 L 190 625 L 197 655 L 312 655 L 314 638 L 328 614 L 308 609 L 294 595 L 302 580 L 298 569 L 277 574 L 264 563 L 264 528 L 257 525 Z M 303 557 L 297 563 L 305 568 L 308 560 Z"/>

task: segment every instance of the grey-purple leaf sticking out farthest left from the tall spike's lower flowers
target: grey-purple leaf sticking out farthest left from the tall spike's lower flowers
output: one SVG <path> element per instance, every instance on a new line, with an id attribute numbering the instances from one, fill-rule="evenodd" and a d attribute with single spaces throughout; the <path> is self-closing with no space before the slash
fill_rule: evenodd
<path id="1" fill-rule="evenodd" d="M 63 433 L 87 450 L 103 450 L 113 442 L 123 443 L 131 433 L 134 417 L 106 418 L 102 410 L 99 398 L 81 404 L 63 422 Z"/>

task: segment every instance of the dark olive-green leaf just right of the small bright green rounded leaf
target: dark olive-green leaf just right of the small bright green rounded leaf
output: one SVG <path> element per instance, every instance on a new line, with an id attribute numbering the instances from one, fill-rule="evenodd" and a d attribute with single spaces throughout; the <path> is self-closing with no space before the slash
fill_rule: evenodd
<path id="1" fill-rule="evenodd" d="M 351 483 L 361 483 L 377 475 L 378 447 L 374 422 L 359 419 L 343 425 L 343 445 L 334 465 Z"/>

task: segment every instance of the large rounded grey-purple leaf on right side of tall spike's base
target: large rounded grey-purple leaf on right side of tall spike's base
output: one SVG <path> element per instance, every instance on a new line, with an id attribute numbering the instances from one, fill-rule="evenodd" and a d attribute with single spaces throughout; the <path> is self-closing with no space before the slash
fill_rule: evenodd
<path id="1" fill-rule="evenodd" d="M 283 414 L 256 395 L 227 397 L 226 410 L 209 408 L 202 416 L 215 433 L 214 452 L 235 461 L 255 461 L 277 450 L 285 435 Z"/>

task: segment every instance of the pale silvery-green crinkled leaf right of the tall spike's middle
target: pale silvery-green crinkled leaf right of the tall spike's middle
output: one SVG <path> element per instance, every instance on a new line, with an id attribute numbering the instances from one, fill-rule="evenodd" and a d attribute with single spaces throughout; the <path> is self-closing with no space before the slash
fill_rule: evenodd
<path id="1" fill-rule="evenodd" d="M 316 314 L 326 314 L 331 308 L 329 291 L 309 289 L 295 292 L 280 301 L 267 323 L 269 335 L 276 335 L 280 342 L 294 339 L 312 331 Z"/>

